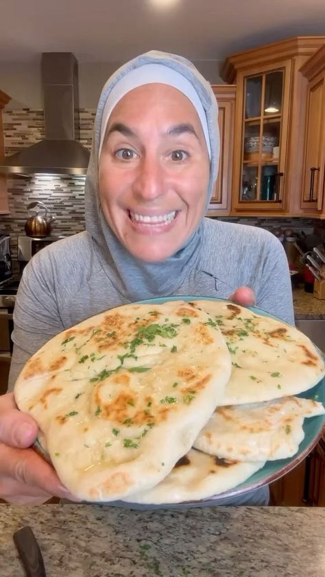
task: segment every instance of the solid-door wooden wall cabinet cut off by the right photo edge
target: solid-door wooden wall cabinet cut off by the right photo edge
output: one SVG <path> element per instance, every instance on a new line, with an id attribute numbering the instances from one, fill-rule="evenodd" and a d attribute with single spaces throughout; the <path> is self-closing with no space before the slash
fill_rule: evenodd
<path id="1" fill-rule="evenodd" d="M 325 45 L 302 66 L 308 80 L 301 206 L 325 217 Z"/>

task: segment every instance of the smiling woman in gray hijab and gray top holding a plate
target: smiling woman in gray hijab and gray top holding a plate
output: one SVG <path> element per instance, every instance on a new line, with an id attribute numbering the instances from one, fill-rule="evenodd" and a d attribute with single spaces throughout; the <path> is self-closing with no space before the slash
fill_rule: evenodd
<path id="1" fill-rule="evenodd" d="M 293 321 L 287 260 L 276 238 L 204 219 L 218 160 L 215 97 L 190 62 L 149 52 L 108 80 L 86 177 L 86 232 L 43 249 L 24 271 L 11 388 L 53 335 L 134 300 L 202 295 L 245 305 L 253 304 L 253 289 L 258 306 Z M 53 469 L 26 448 L 36 434 L 12 395 L 2 397 L 0 496 L 10 502 L 69 497 Z M 240 500 L 267 501 L 267 489 Z"/>

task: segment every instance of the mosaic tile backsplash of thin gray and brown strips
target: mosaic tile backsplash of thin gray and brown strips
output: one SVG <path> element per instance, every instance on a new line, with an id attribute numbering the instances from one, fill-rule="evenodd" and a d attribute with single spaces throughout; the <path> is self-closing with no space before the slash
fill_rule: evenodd
<path id="1" fill-rule="evenodd" d="M 14 154 L 44 138 L 43 110 L 4 110 L 5 154 Z M 80 142 L 91 148 L 95 110 L 80 110 Z M 12 256 L 16 258 L 16 237 L 25 234 L 27 204 L 42 201 L 55 217 L 52 234 L 70 235 L 84 230 L 84 177 L 10 177 L 8 180 L 10 214 L 0 215 L 0 230 L 10 234 Z M 274 219 L 222 217 L 223 220 L 261 226 L 267 230 L 292 228 L 305 234 L 313 232 L 313 219 Z"/>

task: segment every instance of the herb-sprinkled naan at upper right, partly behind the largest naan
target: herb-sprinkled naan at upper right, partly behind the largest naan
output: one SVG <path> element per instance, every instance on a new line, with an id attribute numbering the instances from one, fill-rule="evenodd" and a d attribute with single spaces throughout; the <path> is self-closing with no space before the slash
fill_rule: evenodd
<path id="1" fill-rule="evenodd" d="M 313 343 L 285 323 L 222 301 L 197 301 L 219 328 L 232 357 L 220 405 L 269 401 L 311 389 L 325 374 Z"/>

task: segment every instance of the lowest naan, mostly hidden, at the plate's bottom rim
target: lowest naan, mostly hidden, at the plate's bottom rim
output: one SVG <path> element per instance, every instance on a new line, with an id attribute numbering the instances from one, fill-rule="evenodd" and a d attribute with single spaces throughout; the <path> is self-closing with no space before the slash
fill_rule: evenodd
<path id="1" fill-rule="evenodd" d="M 198 501 L 230 491 L 261 469 L 259 463 L 224 461 L 191 449 L 156 487 L 124 499 L 131 503 L 170 504 Z"/>

